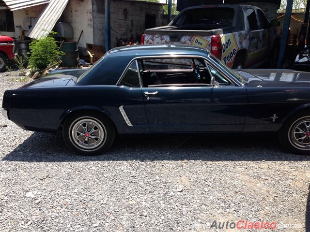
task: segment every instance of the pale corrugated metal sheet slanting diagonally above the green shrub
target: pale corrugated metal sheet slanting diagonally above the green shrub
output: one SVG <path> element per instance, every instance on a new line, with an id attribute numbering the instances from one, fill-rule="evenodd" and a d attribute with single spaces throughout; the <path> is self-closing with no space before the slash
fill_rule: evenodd
<path id="1" fill-rule="evenodd" d="M 27 33 L 27 36 L 39 39 L 41 36 L 48 34 L 62 15 L 67 3 L 68 0 L 50 0 L 47 7 L 39 15 L 37 22 Z"/>

